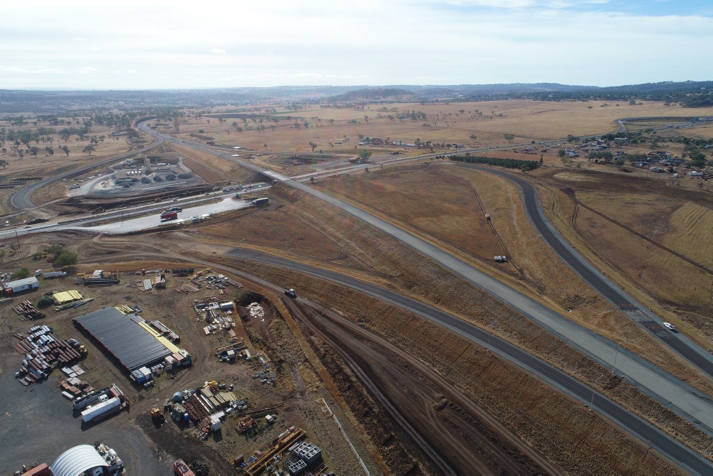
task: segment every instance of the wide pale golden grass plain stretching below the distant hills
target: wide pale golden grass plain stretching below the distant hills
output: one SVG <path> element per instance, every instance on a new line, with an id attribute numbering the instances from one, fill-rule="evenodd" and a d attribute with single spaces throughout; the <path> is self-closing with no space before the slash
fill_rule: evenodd
<path id="1" fill-rule="evenodd" d="M 231 118 L 225 109 L 216 110 L 225 118 L 190 118 L 180 126 L 186 140 L 190 134 L 205 135 L 215 143 L 242 147 L 252 152 L 356 155 L 361 148 L 359 135 L 389 138 L 392 142 L 451 143 L 468 146 L 507 145 L 503 135 L 515 135 L 513 143 L 531 140 L 554 141 L 568 135 L 601 135 L 619 128 L 615 120 L 641 116 L 713 115 L 713 108 L 686 109 L 645 101 L 642 105 L 609 104 L 603 101 L 540 102 L 532 100 L 483 101 L 476 103 L 425 103 L 366 105 L 364 110 L 324 108 L 305 105 L 302 110 L 275 106 L 277 113 L 265 108 L 244 108 Z M 462 112 L 461 112 L 462 111 Z M 411 113 L 414 118 L 411 118 Z M 255 121 L 243 122 L 237 116 L 254 115 Z M 399 115 L 403 119 L 399 119 Z M 277 123 L 271 120 L 277 118 Z M 257 121 L 262 120 L 262 123 Z M 304 127 L 304 123 L 307 127 Z M 237 123 L 233 126 L 232 123 Z M 258 126 L 262 125 L 260 129 Z M 274 126 L 274 128 L 273 128 Z M 237 132 L 241 128 L 242 132 Z M 259 130 L 260 129 L 260 130 Z M 200 130 L 203 133 L 200 134 Z M 171 132 L 165 128 L 166 132 Z M 175 132 L 175 130 L 173 131 Z M 688 133 L 688 131 L 687 131 Z M 706 135 L 706 133 L 702 133 Z M 709 132 L 707 133 L 709 134 Z M 475 135 L 473 140 L 471 135 Z M 341 142 L 342 144 L 337 144 Z M 330 145 L 330 143 L 332 145 Z M 267 148 L 265 148 L 267 145 Z M 237 150 L 240 153 L 240 150 Z"/>

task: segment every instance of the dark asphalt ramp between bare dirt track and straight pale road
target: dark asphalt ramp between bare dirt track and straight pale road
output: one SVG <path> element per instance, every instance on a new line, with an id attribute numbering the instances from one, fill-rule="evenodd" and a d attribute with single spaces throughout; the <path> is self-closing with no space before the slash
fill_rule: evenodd
<path id="1" fill-rule="evenodd" d="M 623 408 L 618 403 L 613 402 L 604 395 L 596 392 L 588 386 L 585 386 L 580 381 L 562 371 L 559 371 L 557 368 L 550 366 L 548 363 L 545 363 L 545 361 L 531 356 L 520 348 L 513 346 L 511 343 L 503 341 L 501 338 L 493 336 L 490 333 L 483 331 L 483 329 L 473 326 L 472 324 L 468 324 L 465 321 L 461 321 L 461 319 L 451 316 L 450 314 L 446 314 L 443 311 L 439 311 L 438 309 L 414 299 L 410 299 L 406 296 L 401 296 L 401 294 L 395 293 L 394 291 L 389 291 L 388 289 L 375 286 L 374 284 L 359 281 L 358 279 L 354 279 L 344 274 L 339 274 L 335 271 L 312 267 L 308 264 L 294 262 L 289 259 L 272 256 L 271 254 L 256 252 L 251 249 L 233 249 L 226 254 L 230 257 L 272 264 L 274 266 L 317 276 L 321 279 L 327 279 L 327 281 L 349 286 L 356 291 L 369 294 L 377 299 L 381 299 L 390 304 L 394 304 L 395 306 L 407 309 L 414 314 L 424 317 L 425 319 L 429 319 L 429 321 L 434 322 L 435 324 L 445 327 L 448 331 L 458 333 L 458 335 L 463 336 L 474 343 L 478 343 L 481 346 L 486 346 L 494 353 L 497 353 L 499 356 L 514 363 L 520 368 L 525 369 L 525 371 L 538 376 L 546 383 L 558 388 L 563 391 L 563 393 L 570 395 L 572 398 L 576 398 L 583 403 L 592 403 L 593 409 L 597 410 L 598 413 L 604 415 L 606 418 L 612 420 L 620 427 L 632 433 L 632 435 L 635 435 L 643 442 L 649 444 L 653 449 L 683 467 L 684 470 L 687 470 L 692 474 L 700 475 L 713 473 L 713 465 L 711 462 L 706 460 L 697 452 L 694 452 L 690 448 L 685 447 L 681 443 L 678 443 L 676 440 L 670 438 L 662 431 L 645 422 L 645 420 L 642 420 L 633 413 L 630 413 L 630 411 Z M 297 289 L 297 293 L 299 296 L 299 289 Z"/>

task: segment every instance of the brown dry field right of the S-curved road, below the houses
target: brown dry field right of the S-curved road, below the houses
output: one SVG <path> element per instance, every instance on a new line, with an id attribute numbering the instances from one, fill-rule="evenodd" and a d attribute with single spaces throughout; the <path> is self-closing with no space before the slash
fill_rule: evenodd
<path id="1" fill-rule="evenodd" d="M 538 171 L 555 222 L 610 277 L 705 345 L 711 333 L 713 196 L 682 178 Z M 688 183 L 685 183 L 688 182 Z M 564 190 L 564 192 L 562 191 Z M 625 191 L 625 192 L 622 192 Z M 547 194 L 543 194 L 547 197 Z"/>

